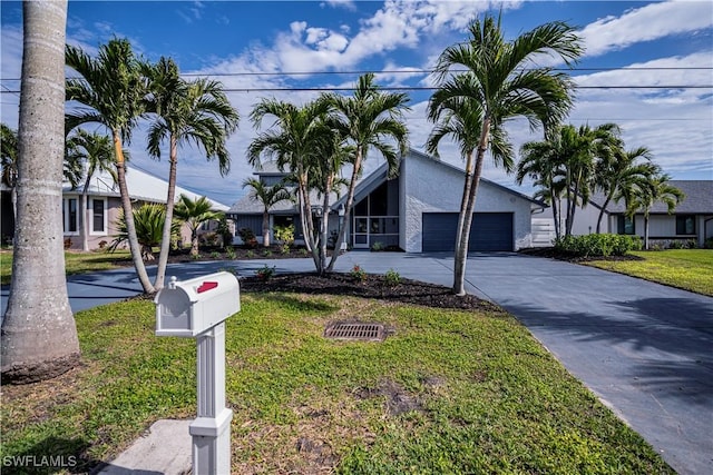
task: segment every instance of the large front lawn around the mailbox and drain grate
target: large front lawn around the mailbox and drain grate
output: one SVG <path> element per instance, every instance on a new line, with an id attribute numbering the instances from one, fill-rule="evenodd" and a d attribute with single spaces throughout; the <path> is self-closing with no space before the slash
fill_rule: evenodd
<path id="1" fill-rule="evenodd" d="M 80 368 L 2 387 L 0 456 L 77 456 L 81 472 L 158 418 L 193 418 L 195 340 L 154 336 L 154 311 L 78 313 Z M 322 337 L 350 318 L 393 334 Z M 505 313 L 244 294 L 226 325 L 233 473 L 673 473 Z"/>

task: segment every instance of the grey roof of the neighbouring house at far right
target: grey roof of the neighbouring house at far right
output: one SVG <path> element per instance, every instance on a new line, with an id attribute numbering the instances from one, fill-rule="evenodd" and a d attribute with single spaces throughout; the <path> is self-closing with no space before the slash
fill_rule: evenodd
<path id="1" fill-rule="evenodd" d="M 681 215 L 713 215 L 713 180 L 670 180 L 668 185 L 684 192 L 685 198 L 676 206 L 675 212 Z M 604 204 L 604 195 L 595 194 L 590 201 L 597 207 Z M 624 201 L 609 202 L 606 207 L 609 214 L 626 211 Z M 667 214 L 668 208 L 663 202 L 656 202 L 651 208 L 652 214 Z"/>

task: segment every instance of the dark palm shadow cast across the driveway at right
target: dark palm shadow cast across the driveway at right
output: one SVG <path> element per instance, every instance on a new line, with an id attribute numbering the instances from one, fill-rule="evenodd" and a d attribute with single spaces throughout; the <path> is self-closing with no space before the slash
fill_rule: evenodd
<path id="1" fill-rule="evenodd" d="M 617 310 L 558 313 L 534 306 L 506 307 L 536 336 L 564 331 L 576 342 L 622 348 L 632 364 L 625 368 L 622 362 L 607 364 L 655 396 L 701 406 L 713 403 L 713 307 L 685 298 L 633 299 L 611 306 Z M 590 356 L 593 360 L 600 358 Z"/>

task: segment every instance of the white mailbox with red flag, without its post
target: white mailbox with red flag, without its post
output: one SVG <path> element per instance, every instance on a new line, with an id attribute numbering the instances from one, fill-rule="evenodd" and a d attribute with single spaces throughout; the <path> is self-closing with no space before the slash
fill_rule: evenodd
<path id="1" fill-rule="evenodd" d="M 158 291 L 156 335 L 196 337 L 240 311 L 237 278 L 229 273 L 216 273 L 195 279 L 176 281 Z"/>

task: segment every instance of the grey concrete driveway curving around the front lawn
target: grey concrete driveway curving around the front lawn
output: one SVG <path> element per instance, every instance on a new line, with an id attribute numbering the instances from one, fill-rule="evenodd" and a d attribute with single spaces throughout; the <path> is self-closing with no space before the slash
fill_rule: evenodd
<path id="1" fill-rule="evenodd" d="M 338 271 L 360 265 L 450 286 L 452 255 L 352 251 Z M 223 269 L 250 276 L 313 270 L 311 259 L 189 263 L 168 275 Z M 154 268 L 149 268 L 149 273 Z M 478 254 L 467 290 L 514 314 L 561 364 L 681 474 L 713 473 L 713 298 L 553 259 Z M 140 291 L 133 269 L 68 278 L 78 311 Z M 8 289 L 2 289 L 2 313 Z"/>

